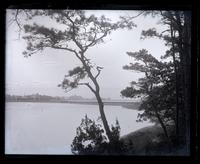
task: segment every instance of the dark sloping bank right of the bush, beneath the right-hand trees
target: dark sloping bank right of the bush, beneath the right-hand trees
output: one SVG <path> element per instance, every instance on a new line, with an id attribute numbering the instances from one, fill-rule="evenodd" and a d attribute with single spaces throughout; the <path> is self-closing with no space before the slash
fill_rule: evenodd
<path id="1" fill-rule="evenodd" d="M 174 138 L 174 127 L 168 127 L 171 139 Z M 121 137 L 121 140 L 132 149 L 133 155 L 186 155 L 184 147 L 169 147 L 163 130 L 158 125 L 141 128 Z"/>

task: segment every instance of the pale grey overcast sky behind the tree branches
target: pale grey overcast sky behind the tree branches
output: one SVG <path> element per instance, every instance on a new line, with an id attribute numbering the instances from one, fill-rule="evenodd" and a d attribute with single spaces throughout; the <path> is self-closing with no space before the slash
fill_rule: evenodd
<path id="1" fill-rule="evenodd" d="M 11 10 L 7 10 L 7 22 L 11 18 Z M 87 15 L 105 15 L 112 21 L 118 20 L 119 16 L 134 16 L 138 11 L 95 10 L 86 11 Z M 126 52 L 147 49 L 157 59 L 164 55 L 167 47 L 159 39 L 141 40 L 141 31 L 149 28 L 157 28 L 164 31 L 165 26 L 158 24 L 159 18 L 139 16 L 133 20 L 137 27 L 132 30 L 117 30 L 111 33 L 105 43 L 92 47 L 86 56 L 93 63 L 103 67 L 98 82 L 100 94 L 104 98 L 121 99 L 120 91 L 129 86 L 131 81 L 137 81 L 143 74 L 123 70 L 122 67 L 134 62 Z M 44 26 L 55 26 L 53 22 L 38 17 L 35 22 Z M 27 22 L 28 23 L 28 22 Z M 33 23 L 33 22 L 30 22 Z M 26 42 L 21 37 L 23 32 L 18 32 L 16 24 L 6 25 L 6 94 L 28 95 L 43 94 L 50 96 L 79 95 L 84 98 L 94 97 L 93 93 L 80 86 L 68 93 L 57 87 L 64 75 L 80 62 L 70 52 L 63 50 L 45 49 L 41 53 L 24 58 L 22 52 L 26 49 Z"/>

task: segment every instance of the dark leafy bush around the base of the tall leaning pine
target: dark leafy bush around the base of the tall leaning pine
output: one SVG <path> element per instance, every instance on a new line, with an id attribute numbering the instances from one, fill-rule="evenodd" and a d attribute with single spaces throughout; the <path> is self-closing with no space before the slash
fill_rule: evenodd
<path id="1" fill-rule="evenodd" d="M 76 155 L 126 153 L 126 146 L 119 139 L 120 126 L 118 120 L 116 120 L 115 126 L 111 127 L 111 135 L 112 142 L 109 142 L 102 125 L 95 123 L 86 115 L 76 129 L 76 136 L 71 145 L 72 153 Z"/>

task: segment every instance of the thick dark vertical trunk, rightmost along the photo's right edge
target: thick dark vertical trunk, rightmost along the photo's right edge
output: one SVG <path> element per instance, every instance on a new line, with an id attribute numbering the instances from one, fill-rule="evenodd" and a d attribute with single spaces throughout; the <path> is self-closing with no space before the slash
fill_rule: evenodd
<path id="1" fill-rule="evenodd" d="M 182 82 L 182 109 L 179 114 L 180 139 L 186 146 L 186 153 L 190 153 L 190 109 L 191 109 L 191 12 L 184 11 L 184 24 L 179 18 L 179 50 L 180 50 L 180 72 Z M 177 19 L 178 20 L 178 19 Z M 181 116 L 181 117 L 180 117 Z"/>

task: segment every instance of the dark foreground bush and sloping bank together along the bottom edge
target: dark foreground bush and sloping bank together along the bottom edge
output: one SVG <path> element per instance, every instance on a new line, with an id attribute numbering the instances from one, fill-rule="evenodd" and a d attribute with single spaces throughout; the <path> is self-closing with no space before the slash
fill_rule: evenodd
<path id="1" fill-rule="evenodd" d="M 174 125 L 167 127 L 166 138 L 159 125 L 145 127 L 120 137 L 120 126 L 116 120 L 112 125 L 113 140 L 110 142 L 98 121 L 85 116 L 76 130 L 76 137 L 71 145 L 75 155 L 162 155 L 181 156 L 186 154 L 185 146 L 178 145 Z"/>

